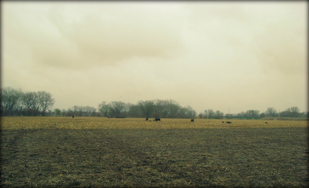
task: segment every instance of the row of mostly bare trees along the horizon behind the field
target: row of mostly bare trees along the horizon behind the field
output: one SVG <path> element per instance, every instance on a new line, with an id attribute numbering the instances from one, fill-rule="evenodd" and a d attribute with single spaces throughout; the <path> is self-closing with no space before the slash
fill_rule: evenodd
<path id="1" fill-rule="evenodd" d="M 87 117 L 160 117 L 160 118 L 204 118 L 222 119 L 232 116 L 219 110 L 207 109 L 197 115 L 191 106 L 182 107 L 175 100 L 140 100 L 137 104 L 122 101 L 101 102 L 98 111 L 90 106 L 74 105 L 68 109 L 53 109 L 55 99 L 49 92 L 22 92 L 11 87 L 1 88 L 1 116 L 87 116 Z M 297 106 L 277 112 L 269 107 L 263 113 L 259 110 L 240 112 L 236 117 L 309 117 L 308 112 L 300 112 Z"/>

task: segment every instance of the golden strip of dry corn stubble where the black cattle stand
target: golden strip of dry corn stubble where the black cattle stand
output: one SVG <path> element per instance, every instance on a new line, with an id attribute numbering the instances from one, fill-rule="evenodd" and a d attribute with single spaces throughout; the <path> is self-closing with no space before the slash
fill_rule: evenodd
<path id="1" fill-rule="evenodd" d="M 151 120 L 151 119 L 150 119 Z M 231 121 L 231 124 L 222 123 Z M 216 120 L 161 119 L 149 122 L 143 118 L 101 117 L 1 117 L 1 129 L 204 129 L 204 128 L 279 128 L 308 127 L 308 121 L 283 120 Z"/>

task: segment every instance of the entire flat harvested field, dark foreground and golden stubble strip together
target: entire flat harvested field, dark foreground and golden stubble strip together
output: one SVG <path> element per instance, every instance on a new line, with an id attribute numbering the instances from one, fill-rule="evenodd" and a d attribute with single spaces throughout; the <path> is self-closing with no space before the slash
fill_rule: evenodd
<path id="1" fill-rule="evenodd" d="M 1 117 L 0 186 L 308 187 L 308 121 L 222 121 Z"/>

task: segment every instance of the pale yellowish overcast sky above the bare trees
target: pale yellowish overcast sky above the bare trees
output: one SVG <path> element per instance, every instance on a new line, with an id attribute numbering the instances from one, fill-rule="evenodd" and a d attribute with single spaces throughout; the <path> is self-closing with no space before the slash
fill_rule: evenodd
<path id="1" fill-rule="evenodd" d="M 53 109 L 308 111 L 307 1 L 1 1 L 1 87 Z"/>

